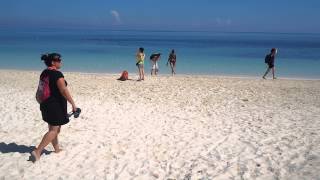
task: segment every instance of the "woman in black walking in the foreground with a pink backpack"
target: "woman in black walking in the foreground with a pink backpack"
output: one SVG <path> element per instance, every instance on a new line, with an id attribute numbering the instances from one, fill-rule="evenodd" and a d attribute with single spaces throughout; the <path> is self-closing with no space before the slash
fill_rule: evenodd
<path id="1" fill-rule="evenodd" d="M 67 113 L 67 101 L 72 106 L 72 111 L 76 112 L 77 107 L 67 88 L 67 82 L 63 74 L 59 71 L 62 67 L 61 55 L 51 53 L 42 55 L 47 68 L 42 71 L 36 99 L 40 103 L 42 119 L 48 123 L 48 132 L 43 136 L 40 144 L 35 148 L 31 155 L 38 161 L 43 149 L 51 143 L 55 153 L 61 151 L 59 147 L 58 135 L 61 126 L 69 122 Z"/>

